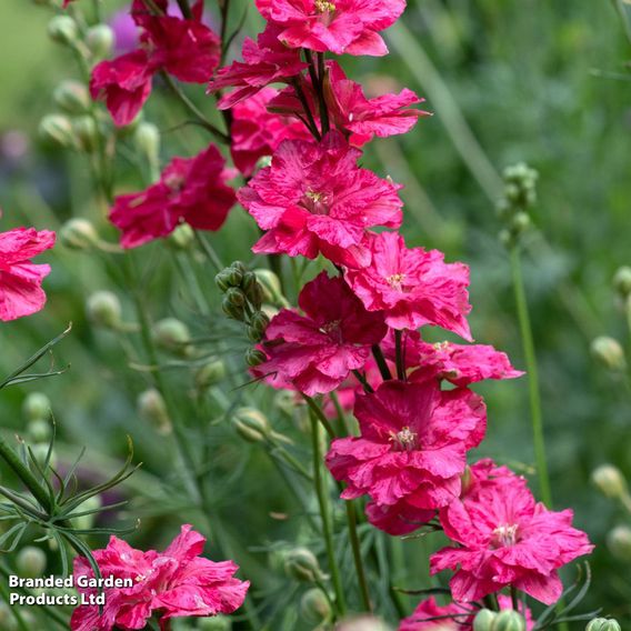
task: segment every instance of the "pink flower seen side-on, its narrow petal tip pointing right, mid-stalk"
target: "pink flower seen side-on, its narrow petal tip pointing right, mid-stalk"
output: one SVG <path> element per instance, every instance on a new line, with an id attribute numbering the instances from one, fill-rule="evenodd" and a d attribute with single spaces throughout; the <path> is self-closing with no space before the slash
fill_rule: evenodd
<path id="1" fill-rule="evenodd" d="M 407 331 L 402 345 L 411 381 L 444 379 L 454 385 L 464 387 L 484 379 L 514 379 L 524 374 L 511 365 L 505 353 L 489 345 L 453 342 L 430 344 L 423 342 L 418 331 Z M 383 352 L 394 361 L 393 335 L 385 338 Z"/>

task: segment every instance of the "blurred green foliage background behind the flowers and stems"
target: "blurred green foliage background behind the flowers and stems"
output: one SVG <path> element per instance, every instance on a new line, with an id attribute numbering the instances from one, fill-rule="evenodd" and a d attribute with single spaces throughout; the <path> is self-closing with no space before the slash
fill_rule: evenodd
<path id="1" fill-rule="evenodd" d="M 121 4 L 104 1 L 103 12 Z M 246 1 L 234 4 L 237 19 Z M 254 12 L 249 11 L 246 22 L 250 34 L 259 24 Z M 84 160 L 44 147 L 37 137 L 40 118 L 53 109 L 52 90 L 60 80 L 77 77 L 70 54 L 46 37 L 49 18 L 34 2 L 0 2 L 0 227 L 57 229 L 70 217 L 90 217 L 113 241 Z M 538 232 L 528 237 L 524 266 L 554 503 L 572 507 L 575 523 L 598 545 L 584 607 L 603 607 L 622 620 L 623 629 L 631 628 L 629 562 L 614 559 L 604 544 L 611 528 L 630 518 L 589 482 L 590 472 L 603 462 L 615 463 L 631 477 L 629 381 L 594 363 L 589 352 L 600 334 L 630 348 L 611 286 L 617 268 L 631 263 L 631 74 L 625 73 L 631 44 L 623 26 L 612 3 L 604 1 L 412 0 L 387 40 L 387 59 L 343 59 L 349 74 L 375 92 L 412 88 L 428 99 L 427 109 L 435 116 L 421 119 L 403 138 L 375 140 L 365 163 L 405 184 L 409 243 L 439 248 L 449 260 L 471 266 L 473 334 L 509 352 L 518 368 L 523 368 L 523 357 L 494 203 L 505 166 L 523 160 L 540 172 L 533 212 Z M 201 87 L 188 93 L 212 111 Z M 166 94 L 158 94 L 149 101 L 147 118 L 163 131 L 163 162 L 174 153 L 192 154 L 208 138 L 199 128 L 173 132 L 183 113 Z M 122 187 L 141 187 L 127 163 L 118 166 L 117 176 Z M 249 261 L 256 238 L 253 222 L 234 209 L 211 241 L 226 262 Z M 150 272 L 146 278 L 154 318 L 180 316 L 197 333 L 213 327 L 196 317 L 187 299 L 182 307 L 169 256 L 149 247 L 137 259 Z M 48 307 L 0 327 L 0 373 L 10 372 L 69 321 L 73 332 L 56 355 L 71 368 L 37 388 L 2 392 L 2 425 L 20 431 L 22 400 L 38 389 L 53 402 L 62 444 L 68 445 L 63 449 L 87 445 L 87 462 L 98 470 L 124 453 L 129 433 L 146 462 L 141 475 L 147 479 L 140 478 L 139 484 L 168 477 L 167 443 L 136 412 L 146 378 L 126 365 L 116 337 L 94 330 L 84 317 L 87 296 L 113 287 L 116 258 L 107 263 L 102 257 L 58 247 L 41 261 L 53 267 L 44 284 Z M 200 268 L 197 273 L 203 291 L 217 302 L 213 270 Z M 224 357 L 242 382 L 242 355 Z M 186 400 L 188 375 L 176 379 Z M 489 405 L 488 439 L 480 454 L 528 471 L 533 453 L 525 381 L 493 382 L 478 390 Z M 228 385 L 227 393 L 237 395 Z M 274 420 L 271 394 L 257 397 Z M 228 480 L 218 510 L 223 520 L 239 523 L 232 534 L 237 544 L 262 545 L 289 535 L 291 529 L 268 514 L 284 510 L 289 501 L 282 489 L 266 483 L 266 475 L 272 474 L 269 464 L 231 434 L 222 442 L 222 431 L 230 434 L 219 427 L 212 438 L 218 443 L 214 464 L 224 475 L 220 479 Z M 252 502 L 261 507 L 259 514 L 246 510 Z M 176 508 L 156 512 L 159 519 L 149 517 L 138 535 L 153 544 L 170 539 L 180 521 Z M 160 521 L 163 517 L 171 528 Z"/>

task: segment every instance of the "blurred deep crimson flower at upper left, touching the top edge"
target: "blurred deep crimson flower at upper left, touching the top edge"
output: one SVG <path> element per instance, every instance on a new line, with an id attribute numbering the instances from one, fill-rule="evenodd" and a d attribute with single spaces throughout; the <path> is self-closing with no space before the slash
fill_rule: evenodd
<path id="1" fill-rule="evenodd" d="M 101 61 L 92 70 L 90 92 L 102 99 L 118 126 L 129 124 L 151 92 L 153 74 L 161 70 L 180 81 L 204 83 L 220 58 L 220 41 L 202 23 L 202 3 L 191 18 L 171 16 L 167 0 L 154 1 L 152 13 L 143 0 L 134 0 L 131 16 L 140 27 L 137 50 Z"/>

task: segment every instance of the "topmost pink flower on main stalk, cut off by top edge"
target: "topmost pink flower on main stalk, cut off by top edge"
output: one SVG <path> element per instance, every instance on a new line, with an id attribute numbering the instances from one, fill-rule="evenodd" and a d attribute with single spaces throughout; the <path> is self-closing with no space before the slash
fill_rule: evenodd
<path id="1" fill-rule="evenodd" d="M 405 9 L 405 0 L 257 0 L 257 8 L 282 27 L 279 40 L 289 48 L 335 54 L 382 56 L 378 34 Z"/>

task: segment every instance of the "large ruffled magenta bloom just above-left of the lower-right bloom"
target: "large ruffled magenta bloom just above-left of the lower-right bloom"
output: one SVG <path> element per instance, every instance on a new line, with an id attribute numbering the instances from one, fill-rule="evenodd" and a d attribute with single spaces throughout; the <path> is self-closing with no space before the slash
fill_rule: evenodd
<path id="1" fill-rule="evenodd" d="M 458 498 L 467 451 L 484 437 L 480 397 L 434 382 L 387 381 L 358 395 L 354 414 L 361 435 L 333 441 L 327 454 L 333 477 L 348 484 L 342 498 L 368 494 L 387 507 L 405 500 L 428 511 Z"/>

